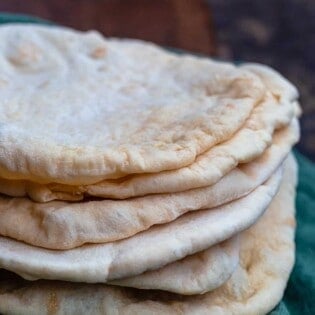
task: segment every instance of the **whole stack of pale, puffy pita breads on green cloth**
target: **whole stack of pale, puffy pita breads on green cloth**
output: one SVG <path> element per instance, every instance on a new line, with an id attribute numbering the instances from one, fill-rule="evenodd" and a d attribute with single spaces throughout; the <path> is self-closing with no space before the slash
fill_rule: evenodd
<path id="1" fill-rule="evenodd" d="M 274 70 L 0 28 L 0 313 L 265 314 L 294 262 Z"/>

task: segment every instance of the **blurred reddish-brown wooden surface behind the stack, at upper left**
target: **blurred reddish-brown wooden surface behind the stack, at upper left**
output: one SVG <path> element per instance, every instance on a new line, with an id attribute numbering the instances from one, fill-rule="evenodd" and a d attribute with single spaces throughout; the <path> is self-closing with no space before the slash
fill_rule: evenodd
<path id="1" fill-rule="evenodd" d="M 0 0 L 0 11 L 23 12 L 106 36 L 132 37 L 214 54 L 210 10 L 202 0 Z"/>

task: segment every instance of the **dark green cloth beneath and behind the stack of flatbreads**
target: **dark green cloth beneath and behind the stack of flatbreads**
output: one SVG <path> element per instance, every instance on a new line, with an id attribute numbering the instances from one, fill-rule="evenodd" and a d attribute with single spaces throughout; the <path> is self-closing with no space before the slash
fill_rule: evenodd
<path id="1" fill-rule="evenodd" d="M 51 24 L 24 14 L 0 14 L 0 24 L 17 22 Z M 296 263 L 284 297 L 270 315 L 315 315 L 315 164 L 296 151 L 295 156 L 299 164 Z"/>

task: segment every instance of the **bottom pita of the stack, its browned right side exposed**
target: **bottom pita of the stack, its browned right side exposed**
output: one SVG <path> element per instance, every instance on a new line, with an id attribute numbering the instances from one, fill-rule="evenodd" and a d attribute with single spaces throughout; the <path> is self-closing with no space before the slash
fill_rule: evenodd
<path id="1" fill-rule="evenodd" d="M 240 268 L 213 292 L 183 297 L 108 285 L 10 280 L 0 284 L 0 311 L 32 315 L 266 314 L 280 301 L 294 262 L 295 183 L 291 160 L 271 206 L 242 235 Z"/>

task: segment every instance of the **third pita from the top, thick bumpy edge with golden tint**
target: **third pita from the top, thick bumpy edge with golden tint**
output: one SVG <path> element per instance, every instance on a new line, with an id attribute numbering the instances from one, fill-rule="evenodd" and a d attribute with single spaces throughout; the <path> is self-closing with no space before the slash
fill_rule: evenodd
<path id="1" fill-rule="evenodd" d="M 213 186 L 181 193 L 45 204 L 0 197 L 0 235 L 51 249 L 124 239 L 189 211 L 217 207 L 247 195 L 279 167 L 297 138 L 295 122 L 279 130 L 274 143 L 255 161 L 239 165 Z"/>

